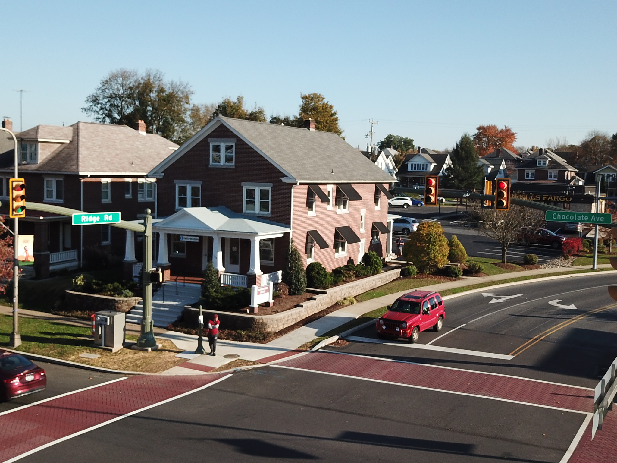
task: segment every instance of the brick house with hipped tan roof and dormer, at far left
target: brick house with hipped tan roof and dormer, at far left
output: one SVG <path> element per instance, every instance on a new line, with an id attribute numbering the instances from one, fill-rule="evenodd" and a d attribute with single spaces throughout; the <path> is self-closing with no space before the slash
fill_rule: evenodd
<path id="1" fill-rule="evenodd" d="M 5 120 L 3 125 L 11 125 Z M 48 202 L 88 212 L 120 211 L 123 220 L 156 210 L 155 179 L 147 172 L 178 148 L 138 127 L 77 122 L 68 127 L 37 125 L 15 134 L 19 142 L 19 175 L 27 202 Z M 8 179 L 13 175 L 12 146 L 0 152 L 0 214 L 8 212 Z M 10 220 L 7 223 L 10 225 Z M 99 248 L 123 256 L 125 233 L 109 225 L 73 227 L 70 217 L 27 211 L 20 234 L 35 235 L 35 273 L 77 269 L 84 249 Z"/>

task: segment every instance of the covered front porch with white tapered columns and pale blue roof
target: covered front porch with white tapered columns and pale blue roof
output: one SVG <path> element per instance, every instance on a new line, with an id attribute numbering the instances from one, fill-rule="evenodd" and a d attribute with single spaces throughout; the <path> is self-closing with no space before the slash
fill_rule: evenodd
<path id="1" fill-rule="evenodd" d="M 152 231 L 156 267 L 174 275 L 202 275 L 212 262 L 222 285 L 250 287 L 280 282 L 291 229 L 221 206 L 181 209 L 154 223 Z M 141 270 L 131 231 L 125 263 L 132 263 L 133 274 Z"/>

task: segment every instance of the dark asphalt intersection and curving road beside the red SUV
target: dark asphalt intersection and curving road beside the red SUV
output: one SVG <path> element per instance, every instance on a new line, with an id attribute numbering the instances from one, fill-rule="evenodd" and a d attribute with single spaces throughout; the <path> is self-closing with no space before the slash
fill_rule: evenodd
<path id="1" fill-rule="evenodd" d="M 351 336 L 366 342 L 349 338 L 342 348 L 326 349 L 338 355 L 299 357 L 342 359 L 341 374 L 281 367 L 236 372 L 23 461 L 560 462 L 586 415 L 534 405 L 539 383 L 519 391 L 516 401 L 499 399 L 499 385 L 519 377 L 553 388 L 593 388 L 617 356 L 617 309 L 606 290 L 616 278 L 610 273 L 526 282 L 453 298 L 445 302 L 442 332 L 421 333 L 424 349 L 403 341 L 384 344 L 374 328 L 365 328 Z M 509 354 L 514 357 L 491 357 Z M 369 371 L 358 361 L 378 366 Z M 403 383 L 371 379 L 397 365 L 431 365 L 452 382 L 460 374 L 489 373 L 487 378 L 500 382 L 491 393 L 496 399 L 452 393 L 447 382 L 404 387 L 418 380 L 413 375 Z M 589 401 L 593 392 L 578 394 Z M 572 397 L 552 398 L 556 404 L 566 399 Z"/>

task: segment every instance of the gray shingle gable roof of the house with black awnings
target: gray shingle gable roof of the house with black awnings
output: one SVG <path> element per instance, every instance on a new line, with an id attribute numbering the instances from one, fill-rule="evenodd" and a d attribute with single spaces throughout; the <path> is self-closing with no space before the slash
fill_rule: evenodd
<path id="1" fill-rule="evenodd" d="M 315 183 L 392 183 L 379 169 L 336 133 L 311 131 L 268 122 L 218 116 L 150 173 L 157 175 L 205 138 L 220 123 L 241 136 L 283 173 Z"/>

